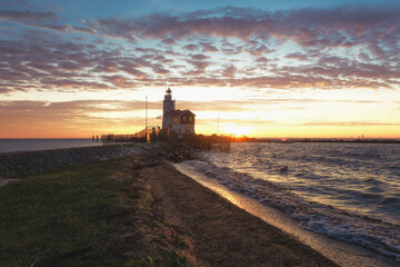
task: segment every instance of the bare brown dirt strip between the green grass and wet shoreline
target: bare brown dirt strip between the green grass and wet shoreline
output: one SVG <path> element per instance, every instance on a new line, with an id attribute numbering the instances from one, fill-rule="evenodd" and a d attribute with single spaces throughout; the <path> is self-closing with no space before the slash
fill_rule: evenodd
<path id="1" fill-rule="evenodd" d="M 154 217 L 189 266 L 337 266 L 167 162 L 141 169 L 141 177 Z"/>

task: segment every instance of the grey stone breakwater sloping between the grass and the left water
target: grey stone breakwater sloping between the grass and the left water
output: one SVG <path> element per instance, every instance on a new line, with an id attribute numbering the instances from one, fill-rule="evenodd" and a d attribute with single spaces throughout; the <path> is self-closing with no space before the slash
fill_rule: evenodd
<path id="1" fill-rule="evenodd" d="M 148 149 L 147 144 L 132 144 L 0 154 L 0 179 L 23 178 L 28 174 L 141 154 Z"/>

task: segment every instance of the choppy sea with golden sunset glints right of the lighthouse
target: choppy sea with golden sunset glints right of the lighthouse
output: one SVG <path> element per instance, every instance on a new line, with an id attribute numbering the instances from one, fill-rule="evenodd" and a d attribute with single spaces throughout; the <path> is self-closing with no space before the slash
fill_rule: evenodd
<path id="1" fill-rule="evenodd" d="M 242 142 L 198 156 L 186 164 L 229 190 L 400 265 L 400 144 Z"/>

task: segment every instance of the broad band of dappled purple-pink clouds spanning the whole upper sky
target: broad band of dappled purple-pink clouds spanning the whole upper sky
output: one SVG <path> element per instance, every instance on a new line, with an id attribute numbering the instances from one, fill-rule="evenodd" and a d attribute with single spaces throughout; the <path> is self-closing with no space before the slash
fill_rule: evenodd
<path id="1" fill-rule="evenodd" d="M 398 11 L 399 4 L 274 12 L 224 7 L 73 24 L 54 12 L 1 10 L 1 20 L 32 29 L 0 39 L 0 93 L 137 89 L 166 77 L 171 86 L 396 89 Z"/>

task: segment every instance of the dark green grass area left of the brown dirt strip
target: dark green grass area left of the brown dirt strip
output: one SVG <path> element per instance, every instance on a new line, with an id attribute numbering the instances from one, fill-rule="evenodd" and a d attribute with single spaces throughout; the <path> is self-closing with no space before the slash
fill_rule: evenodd
<path id="1" fill-rule="evenodd" d="M 136 181 L 148 162 L 127 156 L 1 187 L 0 266 L 179 266 L 174 250 L 150 255 L 138 237 Z"/>

